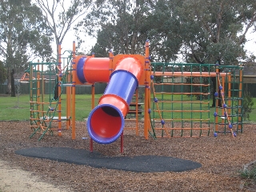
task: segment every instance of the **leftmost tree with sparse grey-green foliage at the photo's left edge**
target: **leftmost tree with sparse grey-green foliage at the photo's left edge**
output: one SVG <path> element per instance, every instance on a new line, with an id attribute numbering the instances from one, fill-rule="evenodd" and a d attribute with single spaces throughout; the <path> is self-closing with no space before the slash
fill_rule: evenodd
<path id="1" fill-rule="evenodd" d="M 11 70 L 27 68 L 32 57 L 46 58 L 51 50 L 50 33 L 42 12 L 30 0 L 2 0 L 0 2 L 0 53 L 7 71 L 7 94 L 10 94 Z M 12 94 L 14 95 L 14 94 Z"/>

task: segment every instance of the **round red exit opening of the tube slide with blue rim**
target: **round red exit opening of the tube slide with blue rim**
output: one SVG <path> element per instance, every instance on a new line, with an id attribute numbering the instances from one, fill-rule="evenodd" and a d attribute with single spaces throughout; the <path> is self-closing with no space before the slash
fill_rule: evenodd
<path id="1" fill-rule="evenodd" d="M 114 142 L 122 134 L 124 120 L 122 112 L 110 104 L 102 104 L 91 111 L 87 130 L 90 137 L 98 143 Z"/>

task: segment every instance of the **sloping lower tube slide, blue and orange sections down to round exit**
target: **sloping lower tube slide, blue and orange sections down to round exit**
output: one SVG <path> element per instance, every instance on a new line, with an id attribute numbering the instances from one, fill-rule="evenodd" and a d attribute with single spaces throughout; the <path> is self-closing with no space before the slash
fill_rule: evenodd
<path id="1" fill-rule="evenodd" d="M 109 144 L 122 134 L 124 116 L 129 110 L 138 79 L 130 71 L 115 70 L 100 99 L 99 105 L 90 112 L 87 130 L 95 142 Z"/>

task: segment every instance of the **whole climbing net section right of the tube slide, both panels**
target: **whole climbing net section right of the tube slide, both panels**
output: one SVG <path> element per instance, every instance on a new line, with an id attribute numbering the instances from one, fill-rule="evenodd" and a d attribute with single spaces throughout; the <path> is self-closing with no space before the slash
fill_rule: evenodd
<path id="1" fill-rule="evenodd" d="M 242 132 L 242 65 L 151 63 L 151 66 L 154 138 L 209 135 L 212 116 L 214 136 L 232 133 L 235 137 Z M 210 96 L 216 100 L 212 114 Z"/>

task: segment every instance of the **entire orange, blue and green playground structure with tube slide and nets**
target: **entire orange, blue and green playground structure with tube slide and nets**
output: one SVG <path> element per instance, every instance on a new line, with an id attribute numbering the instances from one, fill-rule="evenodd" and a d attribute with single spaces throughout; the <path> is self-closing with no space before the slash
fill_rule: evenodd
<path id="1" fill-rule="evenodd" d="M 61 51 L 60 46 L 58 50 Z M 94 58 L 94 54 L 76 55 L 73 43 L 72 55 L 65 58 L 64 66 L 63 59 L 59 53 L 58 62 L 30 63 L 30 69 L 26 71 L 25 76 L 29 78 L 24 76 L 23 81 L 30 82 L 30 126 L 34 130 L 30 138 L 42 132 L 40 140 L 53 130 L 58 130 L 58 135 L 61 135 L 63 121 L 66 129 L 72 127 L 72 139 L 75 138 L 76 86 L 91 86 L 92 110 L 87 120 L 91 150 L 93 141 L 109 144 L 119 137 L 122 148 L 129 113 L 135 114 L 136 122 L 136 127 L 130 128 L 138 135 L 143 122 L 146 139 L 149 135 L 154 138 L 209 135 L 210 115 L 215 118 L 215 135 L 230 132 L 234 136 L 234 132 L 242 132 L 242 66 L 150 63 L 148 41 L 144 56 L 114 56 L 111 51 L 109 58 Z M 48 67 L 47 73 L 44 66 Z M 220 68 L 222 73 L 218 71 Z M 214 114 L 210 114 L 212 78 L 216 81 Z M 49 101 L 44 94 L 46 81 L 54 83 L 50 87 L 53 94 L 50 94 Z M 108 85 L 95 106 L 94 83 L 98 82 L 107 82 Z M 143 111 L 138 109 L 142 104 L 138 103 L 139 86 L 144 89 Z M 66 87 L 66 117 L 62 116 L 63 87 Z M 180 90 L 175 90 L 175 87 Z M 150 94 L 154 95 L 154 102 L 151 102 Z M 135 102 L 132 102 L 133 98 Z M 218 102 L 222 102 L 222 106 L 218 106 Z M 130 106 L 134 106 L 134 110 Z M 143 121 L 138 118 L 139 113 L 143 114 Z M 53 127 L 53 122 L 57 122 L 58 128 Z M 236 130 L 234 126 L 237 126 Z"/>

